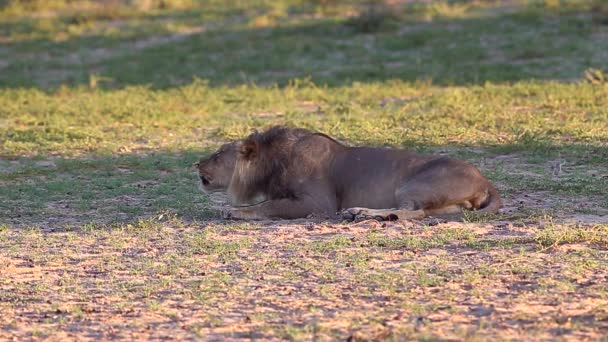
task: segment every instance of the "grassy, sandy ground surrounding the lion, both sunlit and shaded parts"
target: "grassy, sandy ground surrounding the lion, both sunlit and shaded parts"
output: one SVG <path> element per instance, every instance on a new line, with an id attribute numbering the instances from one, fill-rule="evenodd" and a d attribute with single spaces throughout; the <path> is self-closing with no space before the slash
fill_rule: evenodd
<path id="1" fill-rule="evenodd" d="M 0 1 L 0 336 L 604 336 L 601 2 L 392 3 Z M 275 123 L 468 160 L 505 208 L 219 220 L 192 163 Z"/>

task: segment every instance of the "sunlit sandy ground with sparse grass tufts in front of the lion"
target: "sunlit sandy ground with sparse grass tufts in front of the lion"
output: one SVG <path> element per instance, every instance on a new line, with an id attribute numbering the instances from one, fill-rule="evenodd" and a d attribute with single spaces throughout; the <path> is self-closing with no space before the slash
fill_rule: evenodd
<path id="1" fill-rule="evenodd" d="M 429 223 L 3 231 L 0 338 L 579 340 L 607 331 L 604 248 L 539 250 L 538 226 Z"/>

